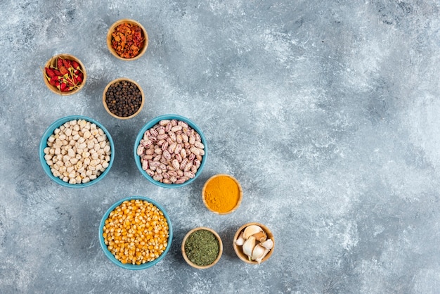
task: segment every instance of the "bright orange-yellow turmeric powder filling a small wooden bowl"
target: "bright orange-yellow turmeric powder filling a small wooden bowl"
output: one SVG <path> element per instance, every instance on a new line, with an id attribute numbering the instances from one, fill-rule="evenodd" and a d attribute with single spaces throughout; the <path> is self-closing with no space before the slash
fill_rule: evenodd
<path id="1" fill-rule="evenodd" d="M 204 202 L 207 207 L 219 213 L 231 212 L 240 204 L 241 187 L 228 174 L 218 174 L 207 181 L 203 188 Z"/>

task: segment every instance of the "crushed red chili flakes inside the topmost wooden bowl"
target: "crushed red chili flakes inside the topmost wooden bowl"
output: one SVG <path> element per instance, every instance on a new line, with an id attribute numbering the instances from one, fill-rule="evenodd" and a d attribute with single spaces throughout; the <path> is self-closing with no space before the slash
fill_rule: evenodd
<path id="1" fill-rule="evenodd" d="M 112 32 L 112 49 L 122 58 L 138 56 L 145 44 L 141 27 L 130 23 L 122 23 Z"/>

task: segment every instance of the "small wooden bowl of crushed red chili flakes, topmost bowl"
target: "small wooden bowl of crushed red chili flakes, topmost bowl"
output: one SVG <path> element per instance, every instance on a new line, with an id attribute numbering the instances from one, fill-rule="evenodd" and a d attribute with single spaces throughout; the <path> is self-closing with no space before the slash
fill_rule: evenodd
<path id="1" fill-rule="evenodd" d="M 136 20 L 117 20 L 108 30 L 107 46 L 120 60 L 136 60 L 147 51 L 148 34 Z"/>

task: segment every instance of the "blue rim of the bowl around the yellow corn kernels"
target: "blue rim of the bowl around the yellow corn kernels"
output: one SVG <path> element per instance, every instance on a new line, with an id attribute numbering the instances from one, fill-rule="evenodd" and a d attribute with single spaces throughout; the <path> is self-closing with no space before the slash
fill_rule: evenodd
<path id="1" fill-rule="evenodd" d="M 157 207 L 159 210 L 161 210 L 164 214 L 164 217 L 167 219 L 167 223 L 168 223 L 168 245 L 167 245 L 167 248 L 165 248 L 164 252 L 159 257 L 157 257 L 155 260 L 153 260 L 152 262 L 145 262 L 144 264 L 123 264 L 122 262 L 119 262 L 119 260 L 117 260 L 115 258 L 115 256 L 112 255 L 112 253 L 110 253 L 110 251 L 107 249 L 107 245 L 105 245 L 105 243 L 104 243 L 103 226 L 105 224 L 105 220 L 108 219 L 110 212 L 115 210 L 115 208 L 118 205 L 120 205 L 121 203 L 123 203 L 124 201 L 129 201 L 132 199 L 148 201 L 149 203 L 155 205 L 155 207 Z M 130 196 L 130 197 L 127 197 L 127 198 L 124 198 L 124 199 L 117 201 L 117 203 L 113 204 L 107 210 L 107 212 L 105 212 L 103 219 L 101 219 L 101 223 L 99 224 L 99 243 L 101 244 L 101 249 L 103 250 L 105 256 L 108 257 L 108 259 L 113 264 L 116 264 L 118 267 L 122 267 L 124 269 L 148 269 L 148 267 L 153 267 L 153 265 L 157 264 L 157 262 L 160 262 L 160 260 L 162 260 L 165 257 L 165 255 L 167 255 L 169 248 L 171 248 L 172 240 L 173 240 L 173 228 L 172 228 L 172 224 L 171 224 L 171 221 L 169 219 L 167 212 L 157 202 L 155 202 L 154 200 L 151 200 L 150 198 L 146 198 L 143 196 Z"/>

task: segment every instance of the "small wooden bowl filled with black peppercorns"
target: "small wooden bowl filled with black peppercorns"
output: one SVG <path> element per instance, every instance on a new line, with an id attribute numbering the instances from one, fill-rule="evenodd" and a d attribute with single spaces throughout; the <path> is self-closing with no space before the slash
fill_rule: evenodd
<path id="1" fill-rule="evenodd" d="M 141 86 L 126 77 L 112 80 L 103 92 L 105 110 L 119 120 L 128 120 L 138 115 L 143 108 L 144 101 Z"/>

